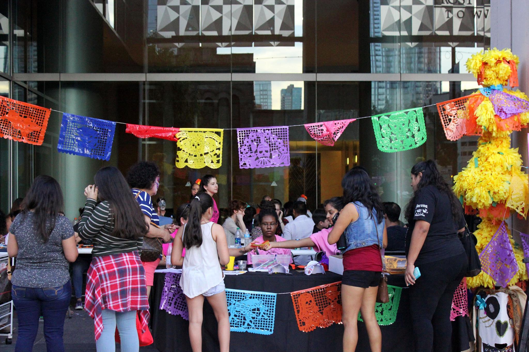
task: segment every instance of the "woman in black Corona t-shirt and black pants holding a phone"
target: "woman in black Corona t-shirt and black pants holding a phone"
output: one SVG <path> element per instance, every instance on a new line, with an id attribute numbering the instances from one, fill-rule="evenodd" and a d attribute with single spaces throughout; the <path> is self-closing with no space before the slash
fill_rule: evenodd
<path id="1" fill-rule="evenodd" d="M 405 211 L 409 223 L 405 280 L 411 285 L 415 350 L 449 351 L 452 297 L 468 265 L 458 238 L 458 232 L 464 231 L 461 203 L 435 161 L 415 164 L 411 176 L 414 192 Z M 416 267 L 419 278 L 413 274 Z"/>

